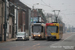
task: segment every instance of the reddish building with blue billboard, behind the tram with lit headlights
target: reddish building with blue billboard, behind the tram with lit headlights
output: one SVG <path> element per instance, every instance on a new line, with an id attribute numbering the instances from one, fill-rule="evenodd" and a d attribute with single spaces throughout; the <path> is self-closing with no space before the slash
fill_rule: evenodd
<path id="1" fill-rule="evenodd" d="M 43 14 L 42 9 L 33 9 L 31 12 L 31 22 L 36 23 L 40 21 L 41 23 L 46 23 L 45 15 Z"/>

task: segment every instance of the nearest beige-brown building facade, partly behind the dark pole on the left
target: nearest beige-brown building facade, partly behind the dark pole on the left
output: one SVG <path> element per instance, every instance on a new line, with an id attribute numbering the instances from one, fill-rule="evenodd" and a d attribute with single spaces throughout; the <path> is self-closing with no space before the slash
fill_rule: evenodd
<path id="1" fill-rule="evenodd" d="M 12 1 L 6 0 L 6 8 L 5 8 L 5 1 L 0 0 L 0 41 L 4 41 L 4 37 L 7 39 L 15 38 L 15 27 L 14 27 L 14 19 L 15 19 L 15 12 L 14 12 L 14 5 Z M 6 10 L 6 15 L 5 15 Z M 5 17 L 6 17 L 6 24 L 5 24 Z M 4 35 L 6 25 L 6 35 Z"/>

